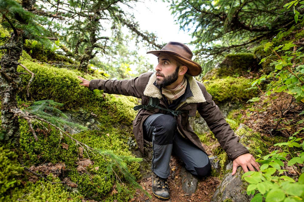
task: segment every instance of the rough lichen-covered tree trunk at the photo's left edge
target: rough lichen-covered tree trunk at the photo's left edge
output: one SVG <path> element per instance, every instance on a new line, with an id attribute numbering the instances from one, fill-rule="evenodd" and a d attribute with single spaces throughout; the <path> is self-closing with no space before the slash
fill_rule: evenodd
<path id="1" fill-rule="evenodd" d="M 0 98 L 1 98 L 1 127 L 5 131 L 1 144 L 19 146 L 19 120 L 11 109 L 18 108 L 16 95 L 19 89 L 20 77 L 17 72 L 18 60 L 23 50 L 23 33 L 12 34 L 8 44 L 1 47 L 6 49 L 1 58 L 0 69 Z"/>

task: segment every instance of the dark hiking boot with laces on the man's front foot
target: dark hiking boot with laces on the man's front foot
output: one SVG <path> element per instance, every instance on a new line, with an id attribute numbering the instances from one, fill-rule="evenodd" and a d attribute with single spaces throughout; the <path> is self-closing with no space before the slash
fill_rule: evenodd
<path id="1" fill-rule="evenodd" d="M 154 172 L 152 172 L 152 193 L 160 200 L 169 200 L 170 198 L 167 179 L 158 177 Z"/>

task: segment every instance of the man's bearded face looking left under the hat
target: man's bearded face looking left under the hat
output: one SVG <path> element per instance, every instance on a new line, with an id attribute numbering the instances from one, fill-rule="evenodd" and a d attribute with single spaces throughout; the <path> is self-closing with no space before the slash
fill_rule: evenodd
<path id="1" fill-rule="evenodd" d="M 159 87 L 166 87 L 173 84 L 178 79 L 178 61 L 169 55 L 160 54 L 156 66 L 156 84 Z"/>

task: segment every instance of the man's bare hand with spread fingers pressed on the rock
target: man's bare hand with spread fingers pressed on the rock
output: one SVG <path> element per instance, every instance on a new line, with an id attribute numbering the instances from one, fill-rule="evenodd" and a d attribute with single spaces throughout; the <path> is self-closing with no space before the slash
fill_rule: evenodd
<path id="1" fill-rule="evenodd" d="M 237 172 L 237 167 L 239 166 L 243 168 L 243 171 L 245 173 L 248 172 L 249 170 L 254 171 L 254 168 L 257 171 L 260 171 L 259 164 L 255 162 L 255 158 L 249 153 L 238 156 L 236 159 L 233 160 L 232 163 L 233 163 L 232 175 L 234 175 Z"/>

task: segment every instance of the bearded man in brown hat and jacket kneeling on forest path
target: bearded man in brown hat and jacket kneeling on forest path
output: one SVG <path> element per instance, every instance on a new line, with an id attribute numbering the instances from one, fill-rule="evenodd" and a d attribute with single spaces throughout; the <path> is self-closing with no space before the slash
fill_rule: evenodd
<path id="1" fill-rule="evenodd" d="M 167 178 L 170 175 L 171 153 L 181 158 L 185 168 L 197 177 L 210 174 L 211 164 L 194 133 L 188 118 L 196 111 L 205 119 L 210 130 L 233 161 L 232 175 L 241 166 L 244 172 L 259 171 L 259 165 L 249 151 L 239 143 L 205 86 L 193 76 L 202 72 L 192 61 L 192 51 L 179 42 L 169 42 L 159 51 L 155 73 L 143 73 L 128 80 L 82 80 L 81 85 L 141 98 L 142 105 L 133 121 L 133 133 L 143 152 L 143 140 L 152 141 L 152 193 L 161 200 L 170 198 Z"/>

